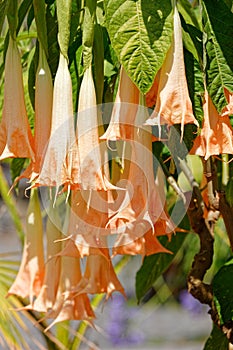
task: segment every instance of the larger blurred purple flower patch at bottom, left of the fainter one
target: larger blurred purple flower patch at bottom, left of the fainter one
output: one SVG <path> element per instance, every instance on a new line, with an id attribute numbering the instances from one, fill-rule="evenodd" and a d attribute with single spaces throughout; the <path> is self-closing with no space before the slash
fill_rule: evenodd
<path id="1" fill-rule="evenodd" d="M 134 310 L 127 307 L 122 295 L 115 295 L 111 302 L 111 312 L 107 327 L 109 340 L 114 346 L 136 345 L 144 341 L 144 335 L 137 331 L 130 331 L 130 319 Z"/>

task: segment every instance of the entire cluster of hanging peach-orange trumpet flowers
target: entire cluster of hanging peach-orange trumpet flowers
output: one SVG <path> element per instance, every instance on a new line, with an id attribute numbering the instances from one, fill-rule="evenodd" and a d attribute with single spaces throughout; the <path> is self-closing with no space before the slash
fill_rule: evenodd
<path id="1" fill-rule="evenodd" d="M 219 116 L 208 93 L 204 96 L 204 122 L 192 154 L 208 158 L 233 153 L 229 105 Z M 91 320 L 94 311 L 88 294 L 118 291 L 124 295 L 112 264 L 116 254 L 169 253 L 157 236 L 176 228 L 166 211 L 161 171 L 153 171 L 151 125 L 197 124 L 188 94 L 183 57 L 182 29 L 174 10 L 174 34 L 166 59 L 146 96 L 154 106 L 149 116 L 141 106 L 141 93 L 120 70 L 119 86 L 111 121 L 105 133 L 96 105 L 92 67 L 84 72 L 74 127 L 72 82 L 67 58 L 60 54 L 54 86 L 43 48 L 40 46 L 35 81 L 35 126 L 32 136 L 24 101 L 22 68 L 16 41 L 10 37 L 5 62 L 4 106 L 0 125 L 0 160 L 29 158 L 21 175 L 29 179 L 31 196 L 21 266 L 9 290 L 29 297 L 30 309 L 44 312 L 54 323 Z M 110 176 L 107 145 L 123 140 L 130 156 L 121 171 L 112 162 Z M 231 142 L 230 142 L 231 140 Z M 115 164 L 115 165 L 114 165 Z M 46 258 L 37 187 L 67 193 L 70 207 L 66 236 L 59 229 L 56 205 L 48 211 Z M 116 234 L 113 247 L 108 237 Z M 80 262 L 84 263 L 82 273 Z"/>

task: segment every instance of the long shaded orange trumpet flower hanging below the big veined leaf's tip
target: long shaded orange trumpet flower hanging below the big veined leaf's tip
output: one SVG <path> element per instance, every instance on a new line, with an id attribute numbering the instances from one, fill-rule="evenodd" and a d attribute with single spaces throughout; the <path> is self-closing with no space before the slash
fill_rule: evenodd
<path id="1" fill-rule="evenodd" d="M 145 107 L 140 106 L 136 118 L 138 125 L 143 125 L 146 117 Z M 148 127 L 134 130 L 128 184 L 124 200 L 108 222 L 108 226 L 120 234 L 117 246 L 119 242 L 131 244 L 148 231 L 153 232 L 154 224 L 161 216 L 168 220 L 154 180 L 152 134 Z M 135 249 L 138 251 L 137 247 Z"/>

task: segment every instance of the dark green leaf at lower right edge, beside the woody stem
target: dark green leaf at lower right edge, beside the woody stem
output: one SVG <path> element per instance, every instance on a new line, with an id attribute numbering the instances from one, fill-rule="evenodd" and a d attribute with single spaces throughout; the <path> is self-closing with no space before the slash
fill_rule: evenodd
<path id="1" fill-rule="evenodd" d="M 233 258 L 223 265 L 213 279 L 213 296 L 223 325 L 233 320 Z"/>

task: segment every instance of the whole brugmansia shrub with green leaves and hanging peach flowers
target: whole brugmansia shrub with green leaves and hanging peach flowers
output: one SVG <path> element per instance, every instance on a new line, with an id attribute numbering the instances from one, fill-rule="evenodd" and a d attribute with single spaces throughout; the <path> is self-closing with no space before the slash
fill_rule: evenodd
<path id="1" fill-rule="evenodd" d="M 61 321 L 92 325 L 90 295 L 125 296 L 114 256 L 142 256 L 140 301 L 193 230 L 200 251 L 188 290 L 210 306 L 206 346 L 216 337 L 227 348 L 232 261 L 213 284 L 203 279 L 220 217 L 233 246 L 232 1 L 3 0 L 0 8 L 0 160 L 13 187 L 27 179 L 30 196 L 8 296 L 51 319 L 46 331 Z"/>

